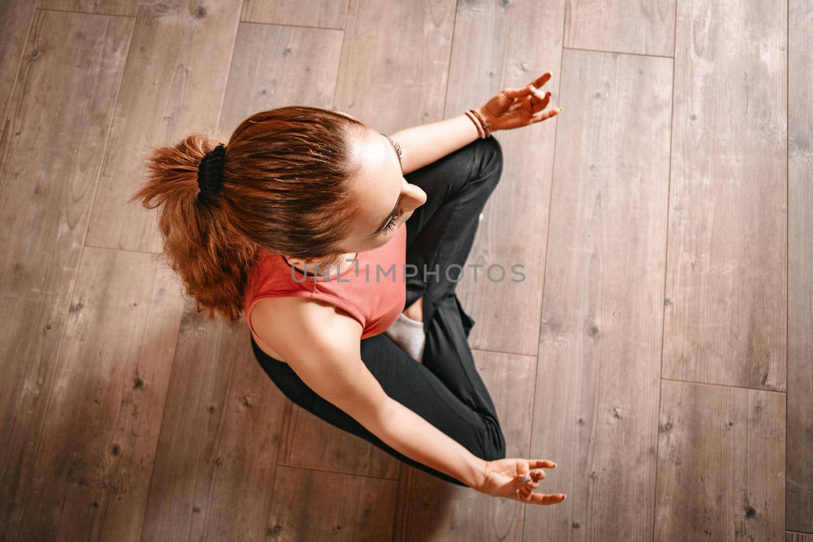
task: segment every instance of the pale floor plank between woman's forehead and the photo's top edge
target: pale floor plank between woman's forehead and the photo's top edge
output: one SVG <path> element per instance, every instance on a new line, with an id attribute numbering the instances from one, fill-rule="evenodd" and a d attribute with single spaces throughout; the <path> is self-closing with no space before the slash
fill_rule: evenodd
<path id="1" fill-rule="evenodd" d="M 352 0 L 333 108 L 384 133 L 443 119 L 456 3 Z"/>

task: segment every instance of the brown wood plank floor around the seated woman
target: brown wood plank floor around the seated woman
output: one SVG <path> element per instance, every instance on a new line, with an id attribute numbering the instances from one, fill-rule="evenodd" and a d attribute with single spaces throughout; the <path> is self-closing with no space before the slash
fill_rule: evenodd
<path id="1" fill-rule="evenodd" d="M 2 540 L 813 541 L 813 0 L 0 2 Z M 291 404 L 126 205 L 254 111 L 497 132 L 470 337 L 552 507 Z M 808 533 L 808 534 L 805 534 Z"/>

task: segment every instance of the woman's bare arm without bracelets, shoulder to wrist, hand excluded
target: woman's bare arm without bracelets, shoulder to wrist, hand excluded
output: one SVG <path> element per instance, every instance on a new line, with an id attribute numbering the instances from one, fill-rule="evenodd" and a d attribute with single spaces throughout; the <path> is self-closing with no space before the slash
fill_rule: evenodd
<path id="1" fill-rule="evenodd" d="M 484 459 L 381 388 L 361 359 L 361 324 L 349 314 L 321 301 L 280 297 L 258 304 L 252 323 L 309 388 L 391 448 L 471 488 L 482 487 Z"/>

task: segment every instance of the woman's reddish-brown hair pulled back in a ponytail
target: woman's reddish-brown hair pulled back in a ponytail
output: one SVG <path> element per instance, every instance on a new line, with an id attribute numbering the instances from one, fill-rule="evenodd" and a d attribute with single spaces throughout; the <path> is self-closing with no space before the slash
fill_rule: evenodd
<path id="1" fill-rule="evenodd" d="M 218 141 L 193 133 L 152 150 L 146 182 L 130 202 L 159 207 L 163 254 L 198 312 L 240 318 L 260 249 L 313 258 L 320 268 L 337 262 L 337 243 L 347 235 L 354 208 L 346 181 L 360 166 L 353 141 L 366 129 L 318 107 L 251 115 L 226 144 L 216 196 L 198 188 L 198 163 Z"/>

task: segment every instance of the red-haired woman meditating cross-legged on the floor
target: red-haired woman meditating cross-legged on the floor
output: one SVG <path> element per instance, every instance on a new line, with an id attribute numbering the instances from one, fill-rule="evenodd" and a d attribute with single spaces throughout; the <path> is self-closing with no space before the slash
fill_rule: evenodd
<path id="1" fill-rule="evenodd" d="M 133 199 L 161 207 L 164 252 L 198 310 L 245 310 L 291 401 L 451 483 L 559 503 L 533 492 L 554 462 L 505 458 L 454 293 L 502 174 L 490 132 L 558 114 L 543 111 L 548 80 L 392 137 L 337 111 L 263 111 L 227 145 L 193 134 L 154 150 Z"/>

